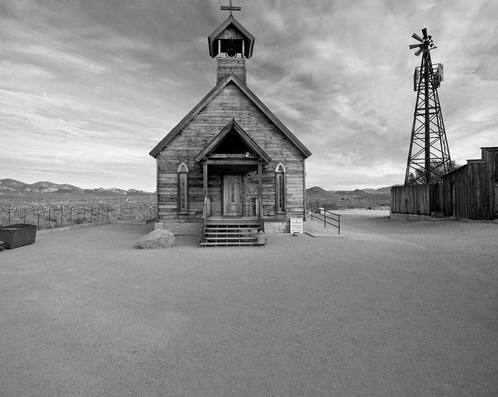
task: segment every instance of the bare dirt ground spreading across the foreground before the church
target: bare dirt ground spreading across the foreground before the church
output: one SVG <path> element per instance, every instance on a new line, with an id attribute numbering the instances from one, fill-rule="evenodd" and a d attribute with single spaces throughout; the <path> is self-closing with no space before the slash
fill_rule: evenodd
<path id="1" fill-rule="evenodd" d="M 340 213 L 346 238 L 0 252 L 0 396 L 498 396 L 498 224 Z"/>

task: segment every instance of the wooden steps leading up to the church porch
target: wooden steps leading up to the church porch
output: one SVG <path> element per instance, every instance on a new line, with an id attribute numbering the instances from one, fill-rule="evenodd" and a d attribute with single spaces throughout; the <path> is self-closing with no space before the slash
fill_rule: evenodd
<path id="1" fill-rule="evenodd" d="M 201 246 L 260 245 L 259 230 L 258 219 L 208 219 Z"/>

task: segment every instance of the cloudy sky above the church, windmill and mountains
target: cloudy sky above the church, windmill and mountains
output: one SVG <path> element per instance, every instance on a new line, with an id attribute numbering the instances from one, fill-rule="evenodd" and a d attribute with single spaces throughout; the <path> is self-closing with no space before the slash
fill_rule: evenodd
<path id="1" fill-rule="evenodd" d="M 149 151 L 216 84 L 228 0 L 0 1 L 0 179 L 155 190 Z M 402 184 L 427 27 L 450 154 L 498 146 L 495 0 L 234 0 L 248 86 L 313 153 L 307 187 Z"/>

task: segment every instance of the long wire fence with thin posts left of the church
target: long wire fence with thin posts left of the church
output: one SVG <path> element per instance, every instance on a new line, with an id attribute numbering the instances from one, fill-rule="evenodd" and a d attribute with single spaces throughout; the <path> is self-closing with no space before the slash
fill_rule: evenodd
<path id="1" fill-rule="evenodd" d="M 156 204 L 91 203 L 86 205 L 1 205 L 0 226 L 16 223 L 36 225 L 37 230 L 93 222 L 146 222 L 157 217 Z"/>

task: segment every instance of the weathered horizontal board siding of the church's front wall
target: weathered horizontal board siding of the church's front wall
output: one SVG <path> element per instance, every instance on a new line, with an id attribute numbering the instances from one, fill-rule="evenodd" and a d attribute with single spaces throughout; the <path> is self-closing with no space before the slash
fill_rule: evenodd
<path id="1" fill-rule="evenodd" d="M 275 214 L 275 168 L 286 169 L 286 212 L 304 216 L 304 155 L 268 116 L 233 82 L 228 83 L 177 133 L 157 155 L 159 218 L 174 216 L 177 209 L 177 169 L 185 162 L 189 169 L 189 210 L 203 208 L 203 172 L 193 159 L 232 118 L 264 150 L 272 161 L 262 170 L 263 213 Z M 208 166 L 208 196 L 211 212 L 222 213 L 222 175 Z M 254 199 L 259 197 L 257 171 L 243 175 L 244 215 L 254 215 Z M 180 216 L 180 215 L 179 215 Z"/>

